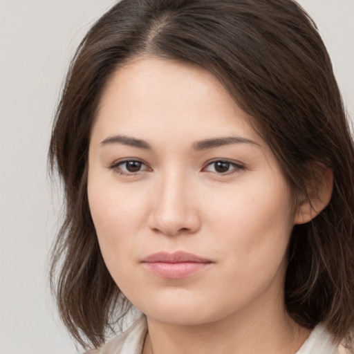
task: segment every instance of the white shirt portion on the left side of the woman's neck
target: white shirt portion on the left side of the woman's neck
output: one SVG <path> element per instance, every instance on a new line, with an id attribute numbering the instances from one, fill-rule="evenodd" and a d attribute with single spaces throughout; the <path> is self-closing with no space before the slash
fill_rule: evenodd
<path id="1" fill-rule="evenodd" d="M 147 335 L 145 316 L 140 317 L 121 335 L 97 349 L 86 351 L 84 354 L 140 354 Z"/>

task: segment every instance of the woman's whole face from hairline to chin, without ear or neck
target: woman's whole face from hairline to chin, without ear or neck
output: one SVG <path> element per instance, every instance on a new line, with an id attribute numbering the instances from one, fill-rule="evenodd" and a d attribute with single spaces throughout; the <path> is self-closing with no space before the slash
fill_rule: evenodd
<path id="1" fill-rule="evenodd" d="M 290 189 L 207 71 L 151 57 L 115 72 L 91 132 L 88 200 L 109 272 L 149 318 L 282 308 Z"/>

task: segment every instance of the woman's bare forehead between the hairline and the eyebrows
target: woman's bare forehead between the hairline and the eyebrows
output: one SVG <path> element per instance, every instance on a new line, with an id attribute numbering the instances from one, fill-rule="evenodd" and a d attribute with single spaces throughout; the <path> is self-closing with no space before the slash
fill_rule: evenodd
<path id="1" fill-rule="evenodd" d="M 249 120 L 212 73 L 148 57 L 113 73 L 102 93 L 93 135 L 103 140 L 117 133 L 149 134 L 151 139 L 187 141 L 235 133 L 254 139 Z"/>

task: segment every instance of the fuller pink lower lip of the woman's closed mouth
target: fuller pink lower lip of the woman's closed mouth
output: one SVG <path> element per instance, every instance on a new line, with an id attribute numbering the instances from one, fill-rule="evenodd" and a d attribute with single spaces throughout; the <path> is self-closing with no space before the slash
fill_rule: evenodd
<path id="1" fill-rule="evenodd" d="M 169 279 L 182 279 L 189 277 L 209 265 L 209 263 L 197 262 L 180 262 L 180 263 L 163 263 L 152 262 L 144 263 L 147 269 L 154 274 Z"/>

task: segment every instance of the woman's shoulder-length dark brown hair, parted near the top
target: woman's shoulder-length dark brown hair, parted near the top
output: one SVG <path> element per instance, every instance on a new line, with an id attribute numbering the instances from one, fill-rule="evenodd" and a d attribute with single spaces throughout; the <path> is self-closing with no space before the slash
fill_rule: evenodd
<path id="1" fill-rule="evenodd" d="M 87 158 L 102 88 L 117 68 L 146 54 L 216 75 L 254 118 L 295 196 L 308 196 L 320 167 L 333 169 L 328 207 L 292 232 L 285 304 L 301 326 L 324 322 L 336 339 L 351 339 L 353 140 L 326 48 L 292 0 L 122 0 L 84 37 L 57 107 L 49 151 L 66 201 L 50 279 L 73 337 L 84 347 L 100 346 L 129 307 L 97 243 Z"/>

